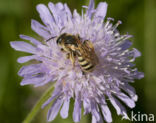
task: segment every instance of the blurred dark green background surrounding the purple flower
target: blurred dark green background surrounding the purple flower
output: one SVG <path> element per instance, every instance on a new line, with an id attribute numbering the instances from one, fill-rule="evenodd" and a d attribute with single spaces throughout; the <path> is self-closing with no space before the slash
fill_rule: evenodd
<path id="1" fill-rule="evenodd" d="M 68 3 L 81 11 L 82 5 L 88 5 L 88 0 L 52 0 L 52 2 Z M 96 5 L 100 0 L 95 0 Z M 48 4 L 48 0 L 0 0 L 0 123 L 21 123 L 32 109 L 33 105 L 47 89 L 32 86 L 20 86 L 21 77 L 17 75 L 22 66 L 16 62 L 24 53 L 14 51 L 10 41 L 20 40 L 19 34 L 36 36 L 31 30 L 30 20 L 40 21 L 36 11 L 39 3 Z M 137 67 L 145 73 L 145 78 L 136 80 L 139 100 L 132 109 L 135 113 L 155 114 L 156 116 L 156 0 L 106 0 L 108 3 L 107 17 L 115 21 L 122 20 L 119 26 L 121 34 L 129 32 L 134 35 L 131 39 L 133 47 L 142 52 L 136 60 Z M 52 123 L 72 123 L 73 103 L 70 106 L 70 115 L 63 120 L 59 115 Z M 48 108 L 41 110 L 33 123 L 45 123 Z M 128 112 L 132 111 L 128 109 Z M 121 121 L 113 107 L 114 123 L 129 123 Z M 156 118 L 155 118 L 156 119 Z M 91 122 L 91 116 L 82 116 L 81 123 Z"/>

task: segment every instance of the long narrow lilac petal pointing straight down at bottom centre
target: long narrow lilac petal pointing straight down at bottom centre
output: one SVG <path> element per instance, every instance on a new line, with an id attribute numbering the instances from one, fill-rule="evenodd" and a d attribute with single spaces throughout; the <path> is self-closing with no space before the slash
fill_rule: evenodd
<path id="1" fill-rule="evenodd" d="M 81 98 L 76 97 L 74 104 L 73 120 L 74 122 L 80 122 L 81 119 Z"/>

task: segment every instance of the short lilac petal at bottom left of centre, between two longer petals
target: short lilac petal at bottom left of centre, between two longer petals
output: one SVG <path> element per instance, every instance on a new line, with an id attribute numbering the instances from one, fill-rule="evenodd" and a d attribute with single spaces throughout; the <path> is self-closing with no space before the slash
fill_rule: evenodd
<path id="1" fill-rule="evenodd" d="M 66 100 L 64 101 L 64 104 L 63 104 L 62 109 L 61 109 L 61 111 L 60 111 L 61 117 L 62 117 L 63 119 L 65 119 L 65 118 L 68 117 L 69 103 L 70 103 L 70 99 L 66 99 Z"/>

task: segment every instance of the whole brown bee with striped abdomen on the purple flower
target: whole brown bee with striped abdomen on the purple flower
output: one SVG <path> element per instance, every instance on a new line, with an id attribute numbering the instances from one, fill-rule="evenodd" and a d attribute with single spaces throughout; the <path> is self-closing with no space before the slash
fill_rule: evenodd
<path id="1" fill-rule="evenodd" d="M 82 42 L 78 34 L 63 33 L 56 39 L 56 43 L 61 47 L 61 51 L 66 53 L 73 67 L 75 67 L 75 61 L 78 61 L 83 73 L 92 72 L 98 64 L 93 44 L 89 40 Z"/>

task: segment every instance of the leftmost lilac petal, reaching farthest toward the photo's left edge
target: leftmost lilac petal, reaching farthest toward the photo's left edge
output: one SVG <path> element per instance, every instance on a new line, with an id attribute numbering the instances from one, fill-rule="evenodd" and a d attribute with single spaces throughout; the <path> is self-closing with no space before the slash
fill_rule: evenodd
<path id="1" fill-rule="evenodd" d="M 17 51 L 23 51 L 27 53 L 37 53 L 37 48 L 24 42 L 24 41 L 12 41 L 10 42 L 10 45 L 12 48 L 14 48 Z"/>

